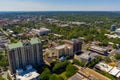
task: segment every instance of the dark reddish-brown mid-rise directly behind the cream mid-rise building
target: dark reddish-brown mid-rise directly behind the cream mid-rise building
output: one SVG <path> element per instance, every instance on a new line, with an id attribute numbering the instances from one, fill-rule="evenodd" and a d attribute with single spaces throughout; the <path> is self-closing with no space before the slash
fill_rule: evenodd
<path id="1" fill-rule="evenodd" d="M 82 49 L 82 40 L 80 38 L 78 39 L 72 39 L 72 40 L 63 40 L 63 42 L 66 45 L 73 47 L 73 53 L 81 52 Z"/>

